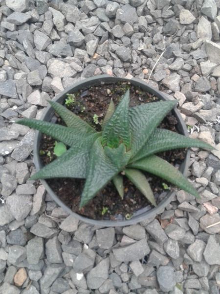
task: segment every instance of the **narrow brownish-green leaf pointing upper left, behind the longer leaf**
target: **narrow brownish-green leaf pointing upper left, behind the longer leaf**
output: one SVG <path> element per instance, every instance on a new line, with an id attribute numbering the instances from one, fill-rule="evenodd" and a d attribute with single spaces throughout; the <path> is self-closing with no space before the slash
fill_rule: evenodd
<path id="1" fill-rule="evenodd" d="M 68 127 L 75 128 L 82 133 L 95 133 L 96 130 L 80 117 L 68 110 L 65 106 L 55 101 L 48 101 L 53 109 L 59 114 Z"/>

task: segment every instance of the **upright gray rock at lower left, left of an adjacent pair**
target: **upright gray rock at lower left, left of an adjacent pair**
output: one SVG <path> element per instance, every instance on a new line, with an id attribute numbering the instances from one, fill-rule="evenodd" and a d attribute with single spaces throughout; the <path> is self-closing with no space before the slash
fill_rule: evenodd
<path id="1" fill-rule="evenodd" d="M 44 256 L 44 240 L 35 237 L 28 241 L 27 246 L 27 262 L 30 265 L 37 265 Z"/>

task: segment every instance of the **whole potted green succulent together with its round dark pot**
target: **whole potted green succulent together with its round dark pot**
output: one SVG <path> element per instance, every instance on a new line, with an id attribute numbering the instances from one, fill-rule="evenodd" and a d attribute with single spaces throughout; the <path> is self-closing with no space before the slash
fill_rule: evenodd
<path id="1" fill-rule="evenodd" d="M 122 98 L 118 98 L 117 105 L 115 105 L 115 101 L 111 99 L 111 91 L 107 91 L 110 102 L 106 109 L 102 109 L 103 118 L 101 123 L 99 122 L 100 116 L 93 115 L 93 123 L 99 124 L 98 127 L 93 127 L 91 123 L 88 123 L 89 112 L 86 111 L 88 109 L 85 106 L 80 106 L 80 115 L 76 115 L 66 108 L 66 106 L 76 103 L 75 94 L 77 91 L 85 91 L 89 87 L 94 88 L 98 85 L 99 87 L 104 87 L 103 85 L 109 84 L 113 84 L 113 87 L 117 88 L 118 81 L 125 82 L 127 85 L 126 89 L 124 89 L 124 95 Z M 150 94 L 153 102 L 138 101 L 137 104 L 135 102 L 134 106 L 131 107 L 129 84 L 139 87 L 145 96 Z M 154 101 L 154 98 L 157 101 Z M 180 165 L 180 171 L 156 155 L 158 152 L 176 148 L 213 148 L 205 142 L 187 137 L 185 124 L 180 113 L 175 108 L 176 100 L 167 100 L 159 91 L 156 91 L 143 81 L 101 75 L 76 83 L 55 97 L 55 99 L 49 101 L 49 103 L 50 106 L 45 110 L 42 120 L 21 119 L 17 123 L 38 130 L 34 144 L 34 162 L 38 172 L 31 179 L 41 179 L 52 198 L 76 218 L 91 224 L 117 226 L 143 221 L 161 212 L 172 200 L 176 191 L 172 189 L 171 191 L 166 190 L 163 199 L 161 200 L 159 197 L 159 200 L 157 199 L 158 203 L 156 203 L 148 181 L 149 173 L 199 197 L 197 190 L 181 173 L 181 171 L 185 172 L 188 169 L 189 152 L 186 153 Z M 90 104 L 92 106 L 92 103 Z M 79 104 L 77 106 L 79 111 Z M 87 113 L 82 116 L 84 111 Z M 177 128 L 180 133 L 158 127 L 171 111 L 176 118 Z M 54 112 L 58 114 L 60 123 L 51 122 Z M 57 158 L 44 167 L 39 154 L 42 145 L 42 133 L 58 141 L 58 143 L 56 141 L 54 147 Z M 75 210 L 77 213 L 72 211 L 51 189 L 48 182 L 48 179 L 51 178 L 84 179 L 82 193 L 77 192 L 81 194 L 77 195 L 80 199 L 77 210 Z M 110 207 L 108 206 L 102 206 L 102 220 L 90 219 L 85 216 L 85 207 L 87 207 L 87 210 L 93 209 L 94 203 L 93 206 L 89 206 L 91 201 L 97 197 L 97 194 L 100 197 L 100 191 L 107 187 L 110 182 L 112 183 L 111 189 L 104 192 L 105 198 L 107 197 L 107 202 L 105 203 L 108 203 L 108 195 L 106 195 L 108 191 L 110 193 L 109 201 L 112 200 L 111 191 L 113 189 L 118 194 L 118 201 L 114 200 L 113 205 L 117 205 L 119 199 L 123 202 L 124 195 L 129 195 L 129 188 L 124 186 L 125 178 L 127 178 L 127 182 L 129 180 L 129 183 L 135 186 L 135 189 L 139 191 L 142 197 L 147 199 L 151 206 L 148 205 L 147 209 L 146 207 L 140 207 L 139 210 L 132 214 L 124 214 L 124 217 L 122 213 L 119 219 L 111 215 Z M 74 189 L 78 189 L 78 182 L 73 183 L 73 187 L 68 188 L 69 198 L 76 197 L 76 195 L 74 196 Z M 82 184 L 82 182 L 80 183 Z M 166 186 L 166 184 L 164 185 Z M 58 190 L 62 189 L 63 187 L 59 187 Z M 102 193 L 101 196 L 104 194 Z M 107 211 L 111 215 L 110 220 L 106 220 Z"/>

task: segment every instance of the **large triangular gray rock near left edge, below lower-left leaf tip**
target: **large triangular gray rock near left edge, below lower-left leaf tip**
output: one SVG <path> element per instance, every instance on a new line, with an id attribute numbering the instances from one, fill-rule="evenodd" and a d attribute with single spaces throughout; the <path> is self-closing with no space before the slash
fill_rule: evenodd
<path id="1" fill-rule="evenodd" d="M 17 194 L 8 196 L 6 203 L 17 221 L 24 220 L 28 216 L 33 205 L 32 196 Z"/>

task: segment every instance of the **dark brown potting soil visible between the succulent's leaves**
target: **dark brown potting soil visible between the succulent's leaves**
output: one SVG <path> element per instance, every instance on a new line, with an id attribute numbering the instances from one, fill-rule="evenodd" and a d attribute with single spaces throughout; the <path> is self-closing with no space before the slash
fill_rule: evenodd
<path id="1" fill-rule="evenodd" d="M 119 99 L 128 88 L 130 89 L 131 107 L 159 100 L 155 96 L 144 92 L 142 89 L 128 82 L 118 82 L 117 84 L 105 84 L 80 90 L 74 93 L 74 101 L 72 103 L 67 103 L 66 107 L 96 128 L 96 130 L 100 131 L 101 123 L 110 103 L 110 99 L 113 99 L 114 104 L 117 105 Z M 57 116 L 57 123 L 65 124 L 59 116 Z M 176 125 L 176 117 L 170 113 L 159 127 L 178 132 Z M 44 165 L 56 158 L 56 155 L 53 153 L 54 144 L 54 139 L 46 135 L 42 136 L 40 155 Z M 157 155 L 172 163 L 174 166 L 178 166 L 182 163 L 185 154 L 185 149 L 157 153 Z M 149 180 L 155 200 L 158 204 L 164 196 L 164 193 L 161 194 L 164 189 L 169 188 L 173 190 L 173 186 L 165 180 L 147 172 L 145 172 L 145 175 Z M 47 179 L 46 181 L 51 189 L 72 211 L 90 219 L 129 219 L 140 209 L 146 208 L 146 210 L 148 210 L 152 208 L 149 201 L 126 177 L 124 178 L 125 195 L 123 200 L 118 195 L 114 185 L 110 182 L 81 210 L 79 210 L 79 203 L 85 179 L 56 178 Z"/>

